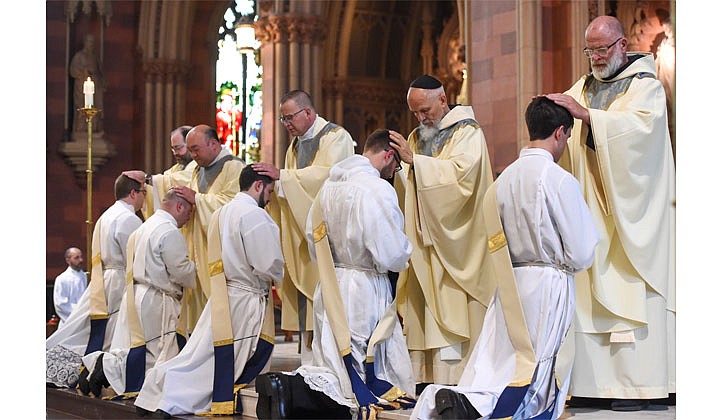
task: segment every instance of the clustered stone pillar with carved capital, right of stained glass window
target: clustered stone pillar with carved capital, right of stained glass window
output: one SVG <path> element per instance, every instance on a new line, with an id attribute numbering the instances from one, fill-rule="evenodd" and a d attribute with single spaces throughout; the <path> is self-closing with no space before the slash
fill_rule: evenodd
<path id="1" fill-rule="evenodd" d="M 287 130 L 277 119 L 280 98 L 290 90 L 302 89 L 313 97 L 318 111 L 322 109 L 322 71 L 317 52 L 326 36 L 321 16 L 312 14 L 311 8 L 274 14 L 283 5 L 261 3 L 260 18 L 255 22 L 263 65 L 262 160 L 278 167 L 284 166 L 289 145 Z"/>

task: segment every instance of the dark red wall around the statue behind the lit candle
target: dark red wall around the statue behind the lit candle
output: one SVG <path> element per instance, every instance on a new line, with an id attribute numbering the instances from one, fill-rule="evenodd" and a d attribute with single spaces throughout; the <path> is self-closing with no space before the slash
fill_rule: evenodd
<path id="1" fill-rule="evenodd" d="M 64 161 L 59 147 L 63 141 L 65 89 L 71 81 L 66 66 L 65 2 L 46 2 L 46 278 L 54 279 L 65 267 L 63 253 L 69 246 L 86 248 L 87 191 L 85 174 L 76 178 L 73 168 Z M 105 139 L 112 143 L 116 155 L 93 173 L 93 220 L 114 202 L 113 183 L 124 169 L 135 167 L 134 144 L 137 135 L 137 22 L 140 3 L 112 3 L 110 26 L 104 28 L 104 75 L 107 81 L 103 124 Z M 99 52 L 100 23 L 95 8 L 91 16 L 79 10 L 70 25 L 69 57 L 82 48 L 86 34 L 95 35 Z M 67 104 L 70 107 L 70 104 Z M 70 118 L 72 119 L 72 118 Z M 69 137 L 69 135 L 68 135 Z M 87 257 L 87 255 L 85 255 Z M 86 259 L 87 260 L 87 259 Z"/>

